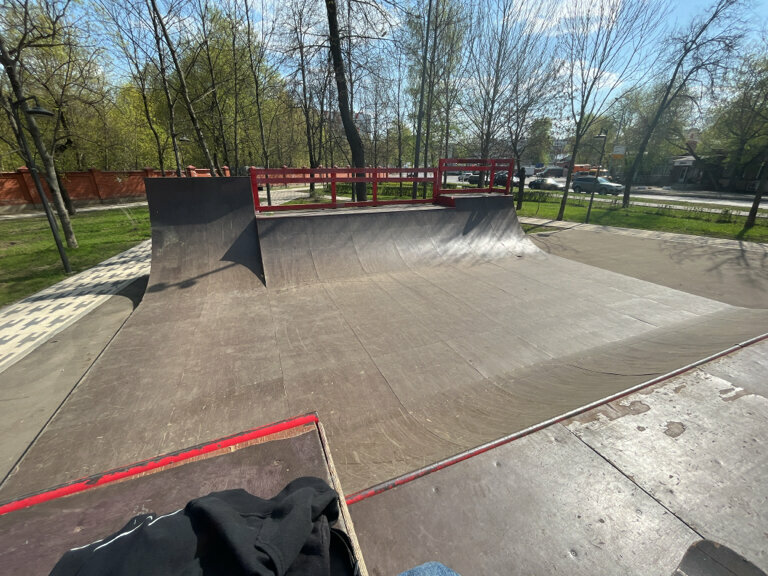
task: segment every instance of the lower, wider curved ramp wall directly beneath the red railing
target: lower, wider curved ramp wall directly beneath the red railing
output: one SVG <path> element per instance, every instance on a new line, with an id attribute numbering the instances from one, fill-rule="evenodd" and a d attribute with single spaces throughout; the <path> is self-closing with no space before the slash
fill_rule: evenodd
<path id="1" fill-rule="evenodd" d="M 451 207 L 259 216 L 267 285 L 281 289 L 539 252 L 510 196 L 450 201 Z"/>

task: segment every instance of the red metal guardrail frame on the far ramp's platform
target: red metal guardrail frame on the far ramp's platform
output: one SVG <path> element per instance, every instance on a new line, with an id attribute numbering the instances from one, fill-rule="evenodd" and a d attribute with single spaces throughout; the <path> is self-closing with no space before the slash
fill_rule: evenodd
<path id="1" fill-rule="evenodd" d="M 455 193 L 504 193 L 509 194 L 510 179 L 503 189 L 495 188 L 493 180 L 499 170 L 508 170 L 508 174 L 514 173 L 514 160 L 512 159 L 488 159 L 477 158 L 448 158 L 441 159 L 435 168 L 255 168 L 248 171 L 251 179 L 251 191 L 253 193 L 253 205 L 257 212 L 273 212 L 282 210 L 312 210 L 318 208 L 338 208 L 355 206 L 383 206 L 391 204 L 427 204 L 434 203 L 445 194 Z M 406 170 L 408 170 L 406 172 Z M 441 188 L 443 175 L 449 171 L 471 170 L 481 174 L 489 173 L 490 180 L 487 187 L 473 187 L 464 189 Z M 403 174 L 406 174 L 403 176 Z M 365 202 L 339 201 L 337 187 L 339 183 L 364 182 L 371 184 L 371 200 Z M 421 183 L 429 184 L 432 193 L 427 198 L 415 198 L 404 200 L 380 200 L 379 184 L 381 183 Z M 308 204 L 280 204 L 262 205 L 259 199 L 259 189 L 272 185 L 288 184 L 316 184 L 325 186 L 330 184 L 330 200 L 328 202 L 315 202 Z"/>

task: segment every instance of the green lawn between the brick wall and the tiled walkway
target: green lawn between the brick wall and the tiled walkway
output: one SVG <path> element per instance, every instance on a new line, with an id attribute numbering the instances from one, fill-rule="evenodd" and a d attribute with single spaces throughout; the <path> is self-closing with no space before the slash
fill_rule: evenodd
<path id="1" fill-rule="evenodd" d="M 67 249 L 74 272 L 87 270 L 150 237 L 146 206 L 76 214 L 72 226 L 80 245 Z M 45 217 L 0 222 L 0 306 L 64 278 Z"/>

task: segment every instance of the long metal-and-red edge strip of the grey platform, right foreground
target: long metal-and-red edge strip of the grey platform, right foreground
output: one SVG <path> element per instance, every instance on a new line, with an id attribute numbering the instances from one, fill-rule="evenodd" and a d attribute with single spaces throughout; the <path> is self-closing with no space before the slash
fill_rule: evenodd
<path id="1" fill-rule="evenodd" d="M 362 500 L 366 500 L 367 498 L 376 496 L 377 494 L 381 494 L 382 492 L 387 492 L 388 490 L 392 490 L 393 488 L 397 488 L 398 486 L 402 486 L 403 484 L 408 484 L 409 482 L 413 482 L 414 480 L 422 478 L 423 476 L 426 476 L 428 474 L 432 474 L 433 472 L 437 472 L 438 470 L 448 468 L 449 466 L 453 466 L 454 464 L 458 464 L 459 462 L 463 462 L 464 460 L 468 460 L 469 458 L 473 458 L 474 456 L 479 456 L 484 452 L 488 452 L 489 450 L 493 450 L 494 448 L 498 448 L 499 446 L 503 446 L 504 444 L 509 444 L 510 442 L 513 442 L 515 440 L 518 440 L 520 438 L 533 434 L 534 432 L 538 432 L 540 430 L 543 430 L 544 428 L 548 428 L 553 424 L 557 424 L 559 422 L 562 422 L 563 420 L 567 420 L 569 418 L 573 418 L 574 416 L 578 416 L 579 414 L 583 414 L 584 412 L 592 410 L 593 408 L 597 408 L 598 406 L 603 406 L 604 404 L 608 404 L 609 402 L 613 402 L 625 396 L 629 396 L 630 394 L 634 394 L 635 392 L 642 390 L 644 388 L 648 388 L 649 386 L 653 386 L 654 384 L 659 384 L 661 382 L 674 378 L 675 376 L 679 376 L 680 374 L 693 370 L 694 368 L 701 366 L 702 364 L 706 364 L 707 362 L 712 362 L 713 360 L 717 360 L 718 358 L 722 358 L 723 356 L 727 356 L 733 352 L 746 348 L 747 346 L 751 346 L 752 344 L 757 344 L 758 342 L 761 342 L 763 340 L 768 340 L 768 334 L 756 336 L 755 338 L 751 338 L 750 340 L 746 340 L 740 344 L 731 346 L 730 348 L 727 348 L 721 352 L 718 352 L 717 354 L 707 356 L 706 358 L 702 358 L 701 360 L 688 364 L 687 366 L 683 366 L 682 368 L 678 368 L 677 370 L 673 370 L 672 372 L 668 372 L 667 374 L 662 374 L 661 376 L 658 376 L 656 378 L 653 378 L 651 380 L 638 384 L 637 386 L 633 386 L 622 392 L 617 392 L 616 394 L 613 394 L 601 400 L 597 400 L 590 404 L 586 404 L 585 406 L 576 408 L 575 410 L 571 410 L 570 412 L 566 412 L 565 414 L 561 414 L 560 416 L 555 416 L 554 418 L 550 418 L 549 420 L 545 420 L 544 422 L 541 422 L 539 424 L 536 424 L 524 430 L 520 430 L 519 432 L 514 432 L 512 434 L 509 434 L 497 440 L 493 440 L 491 442 L 487 442 L 486 444 L 477 446 L 476 448 L 472 448 L 470 450 L 466 450 L 464 452 L 456 454 L 455 456 L 450 456 L 445 460 L 435 462 L 434 464 L 430 464 L 429 466 L 425 466 L 424 468 L 420 468 L 419 470 L 414 470 L 413 472 L 409 472 L 407 474 L 403 474 L 402 476 L 398 476 L 396 478 L 386 480 L 384 482 L 381 482 L 380 484 L 371 486 L 370 488 L 366 488 L 364 490 L 360 490 L 359 492 L 349 494 L 348 496 L 344 497 L 344 500 L 346 501 L 347 506 L 351 506 L 352 504 L 356 504 Z"/>

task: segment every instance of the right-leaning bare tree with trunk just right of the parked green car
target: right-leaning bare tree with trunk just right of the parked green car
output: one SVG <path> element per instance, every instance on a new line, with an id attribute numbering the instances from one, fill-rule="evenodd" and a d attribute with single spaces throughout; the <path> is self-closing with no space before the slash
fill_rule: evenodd
<path id="1" fill-rule="evenodd" d="M 632 183 L 643 162 L 643 156 L 654 130 L 664 114 L 680 98 L 691 93 L 694 85 L 710 91 L 717 76 L 728 61 L 743 35 L 736 26 L 737 14 L 744 7 L 742 0 L 718 0 L 704 17 L 694 19 L 686 29 L 673 34 L 665 42 L 661 59 L 658 100 L 646 121 L 645 134 L 635 151 L 634 160 L 625 174 L 623 206 L 629 206 Z"/>

